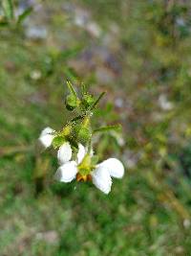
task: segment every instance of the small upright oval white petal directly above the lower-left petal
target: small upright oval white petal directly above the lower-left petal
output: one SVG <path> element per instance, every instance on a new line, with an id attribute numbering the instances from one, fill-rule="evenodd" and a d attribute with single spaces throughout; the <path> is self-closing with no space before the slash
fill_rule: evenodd
<path id="1" fill-rule="evenodd" d="M 57 159 L 60 165 L 65 164 L 72 158 L 72 149 L 69 142 L 64 143 L 57 151 Z"/>

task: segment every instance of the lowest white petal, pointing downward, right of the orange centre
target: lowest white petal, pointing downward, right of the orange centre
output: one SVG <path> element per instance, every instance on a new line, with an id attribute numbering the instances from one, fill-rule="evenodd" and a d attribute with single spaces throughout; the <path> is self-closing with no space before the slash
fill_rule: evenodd
<path id="1" fill-rule="evenodd" d="M 92 174 L 93 183 L 96 188 L 102 191 L 105 194 L 108 194 L 111 191 L 112 187 L 112 178 L 109 175 L 109 172 L 104 167 L 97 167 Z"/>

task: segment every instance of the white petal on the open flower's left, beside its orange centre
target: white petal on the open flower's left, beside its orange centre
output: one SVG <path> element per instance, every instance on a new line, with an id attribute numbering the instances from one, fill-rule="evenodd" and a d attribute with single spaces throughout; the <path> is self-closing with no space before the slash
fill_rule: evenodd
<path id="1" fill-rule="evenodd" d="M 54 178 L 61 182 L 71 182 L 75 178 L 76 174 L 76 163 L 74 161 L 71 161 L 64 165 L 61 165 L 57 169 Z"/>

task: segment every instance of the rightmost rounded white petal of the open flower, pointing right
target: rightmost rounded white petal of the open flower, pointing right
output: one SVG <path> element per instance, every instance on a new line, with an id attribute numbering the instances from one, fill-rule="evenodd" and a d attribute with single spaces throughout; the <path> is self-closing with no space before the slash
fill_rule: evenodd
<path id="1" fill-rule="evenodd" d="M 111 176 L 121 178 L 124 175 L 124 166 L 117 158 L 109 158 L 98 166 L 106 168 Z"/>

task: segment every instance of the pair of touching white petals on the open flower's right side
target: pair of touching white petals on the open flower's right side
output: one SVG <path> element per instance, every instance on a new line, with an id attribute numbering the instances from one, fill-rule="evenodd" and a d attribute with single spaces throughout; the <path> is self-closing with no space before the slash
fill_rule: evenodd
<path id="1" fill-rule="evenodd" d="M 93 183 L 96 188 L 108 194 L 112 187 L 112 176 L 121 178 L 124 175 L 124 167 L 117 158 L 109 158 L 96 166 L 92 173 Z"/>

